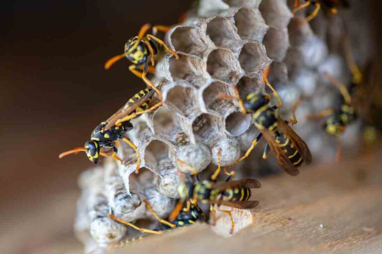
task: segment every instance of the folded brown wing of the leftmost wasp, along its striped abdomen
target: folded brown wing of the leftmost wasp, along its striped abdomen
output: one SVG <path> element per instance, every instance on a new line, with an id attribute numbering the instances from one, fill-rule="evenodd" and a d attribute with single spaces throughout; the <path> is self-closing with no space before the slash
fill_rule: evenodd
<path id="1" fill-rule="evenodd" d="M 149 90 L 144 95 L 141 93 L 141 91 L 138 94 L 134 95 L 134 97 L 130 98 L 129 101 L 122 108 L 120 108 L 117 112 L 115 112 L 111 117 L 109 117 L 106 120 L 107 125 L 105 126 L 104 129 L 105 130 L 110 129 L 111 127 L 113 127 L 115 125 L 115 123 L 119 119 L 122 119 L 122 118 L 134 113 L 134 111 L 139 106 L 141 106 L 142 104 L 144 104 L 145 102 L 150 100 L 154 94 L 155 94 L 155 90 Z M 132 102 L 130 100 L 132 100 Z"/>

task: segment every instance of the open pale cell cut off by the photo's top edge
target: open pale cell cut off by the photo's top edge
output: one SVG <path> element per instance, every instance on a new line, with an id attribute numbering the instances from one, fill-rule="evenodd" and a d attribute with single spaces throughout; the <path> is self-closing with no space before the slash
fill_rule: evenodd
<path id="1" fill-rule="evenodd" d="M 259 9 L 266 23 L 274 28 L 286 28 L 293 16 L 286 0 L 263 0 Z"/>

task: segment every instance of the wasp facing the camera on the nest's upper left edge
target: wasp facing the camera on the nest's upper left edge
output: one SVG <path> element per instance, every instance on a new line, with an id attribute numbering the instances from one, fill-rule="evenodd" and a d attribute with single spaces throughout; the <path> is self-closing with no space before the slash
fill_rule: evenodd
<path id="1" fill-rule="evenodd" d="M 171 50 L 164 41 L 156 37 L 157 31 L 167 32 L 170 27 L 156 25 L 153 26 L 153 34 L 146 34 L 150 29 L 150 24 L 144 24 L 137 36 L 130 38 L 124 47 L 124 53 L 116 55 L 106 61 L 104 68 L 109 69 L 115 62 L 126 57 L 133 64 L 129 66 L 129 70 L 141 78 L 148 86 L 154 89 L 160 100 L 162 100 L 162 94 L 153 83 L 147 79 L 146 74 L 155 72 L 155 56 L 158 54 L 158 48 L 162 45 L 168 52 L 173 54 L 176 59 L 179 58 L 178 54 Z M 145 36 L 146 35 L 146 36 Z M 149 66 L 149 61 L 151 65 Z"/>

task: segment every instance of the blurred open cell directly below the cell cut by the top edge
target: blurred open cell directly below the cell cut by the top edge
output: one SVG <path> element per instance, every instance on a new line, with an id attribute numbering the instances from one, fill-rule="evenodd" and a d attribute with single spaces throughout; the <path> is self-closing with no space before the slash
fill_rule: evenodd
<path id="1" fill-rule="evenodd" d="M 283 61 L 289 47 L 288 31 L 286 29 L 269 28 L 263 41 L 268 56 L 274 61 Z"/>

